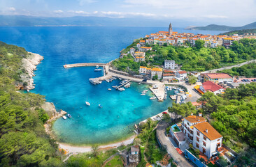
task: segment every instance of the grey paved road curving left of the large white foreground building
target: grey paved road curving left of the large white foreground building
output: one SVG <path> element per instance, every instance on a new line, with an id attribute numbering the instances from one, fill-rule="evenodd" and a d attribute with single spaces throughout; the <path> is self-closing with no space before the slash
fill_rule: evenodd
<path id="1" fill-rule="evenodd" d="M 159 142 L 162 143 L 162 145 L 166 146 L 167 152 L 173 157 L 173 160 L 176 161 L 178 166 L 180 167 L 193 167 L 185 157 L 178 154 L 177 150 L 171 145 L 171 141 L 168 137 L 165 136 L 166 127 L 168 127 L 168 124 L 166 122 L 161 122 L 157 127 L 157 137 L 159 139 Z"/>

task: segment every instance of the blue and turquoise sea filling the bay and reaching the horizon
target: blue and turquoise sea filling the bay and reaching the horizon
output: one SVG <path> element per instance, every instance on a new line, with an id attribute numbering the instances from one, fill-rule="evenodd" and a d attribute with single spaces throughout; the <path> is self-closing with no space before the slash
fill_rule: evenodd
<path id="1" fill-rule="evenodd" d="M 69 63 L 107 63 L 118 58 L 119 51 L 136 38 L 167 28 L 143 27 L 0 27 L 0 40 L 24 47 L 44 56 L 34 77 L 32 93 L 45 95 L 48 102 L 70 113 L 73 118 L 59 118 L 53 131 L 60 142 L 89 145 L 111 143 L 133 133 L 134 123 L 154 116 L 171 106 L 171 100 L 157 102 L 152 96 L 141 96 L 145 85 L 131 84 L 120 92 L 107 90 L 120 81 L 104 81 L 94 86 L 89 78 L 100 77 L 94 67 L 64 69 Z M 191 31 L 173 29 L 179 33 L 218 34 L 223 31 Z M 91 106 L 86 106 L 85 101 Z M 101 104 L 103 108 L 99 108 Z"/>

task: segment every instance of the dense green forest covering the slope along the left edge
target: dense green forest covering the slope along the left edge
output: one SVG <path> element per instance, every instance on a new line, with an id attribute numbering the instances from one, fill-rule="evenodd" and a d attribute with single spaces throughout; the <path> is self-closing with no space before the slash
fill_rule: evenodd
<path id="1" fill-rule="evenodd" d="M 43 96 L 15 88 L 28 54 L 0 42 L 0 166 L 62 166 L 57 144 L 43 127 L 49 118 L 41 109 Z"/>

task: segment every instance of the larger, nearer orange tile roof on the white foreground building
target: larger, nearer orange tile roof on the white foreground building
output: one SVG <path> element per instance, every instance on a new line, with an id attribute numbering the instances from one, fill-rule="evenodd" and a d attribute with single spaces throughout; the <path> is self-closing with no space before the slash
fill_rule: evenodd
<path id="1" fill-rule="evenodd" d="M 201 122 L 197 125 L 194 125 L 194 128 L 199 130 L 204 136 L 209 138 L 211 141 L 222 138 L 221 134 L 217 132 L 208 122 Z M 208 132 L 206 133 L 206 129 L 208 129 Z"/>

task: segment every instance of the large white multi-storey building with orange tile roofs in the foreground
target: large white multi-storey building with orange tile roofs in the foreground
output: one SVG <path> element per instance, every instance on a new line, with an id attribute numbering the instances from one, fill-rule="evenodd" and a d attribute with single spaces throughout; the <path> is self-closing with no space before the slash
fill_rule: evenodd
<path id="1" fill-rule="evenodd" d="M 201 116 L 188 116 L 183 119 L 182 130 L 192 143 L 195 149 L 205 154 L 208 158 L 222 145 L 222 136 L 219 134 L 206 119 Z"/>

